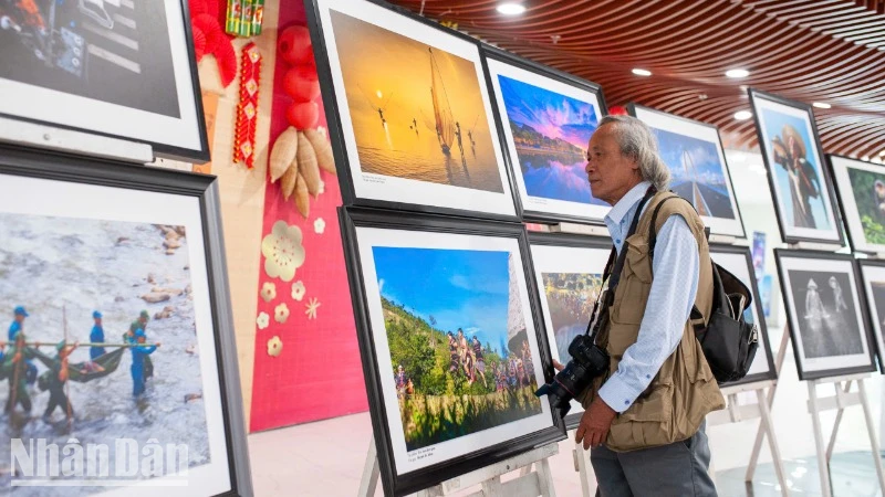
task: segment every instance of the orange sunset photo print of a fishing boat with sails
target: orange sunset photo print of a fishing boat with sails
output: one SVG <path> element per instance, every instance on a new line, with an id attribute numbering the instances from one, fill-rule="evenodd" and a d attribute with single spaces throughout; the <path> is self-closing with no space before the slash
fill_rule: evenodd
<path id="1" fill-rule="evenodd" d="M 329 15 L 360 171 L 504 193 L 476 63 L 336 10 Z"/>

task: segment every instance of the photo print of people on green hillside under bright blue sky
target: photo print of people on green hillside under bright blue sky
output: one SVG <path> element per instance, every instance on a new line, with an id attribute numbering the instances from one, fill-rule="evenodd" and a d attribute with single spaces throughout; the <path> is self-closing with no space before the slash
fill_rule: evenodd
<path id="1" fill-rule="evenodd" d="M 509 252 L 374 247 L 408 451 L 541 413 Z"/>

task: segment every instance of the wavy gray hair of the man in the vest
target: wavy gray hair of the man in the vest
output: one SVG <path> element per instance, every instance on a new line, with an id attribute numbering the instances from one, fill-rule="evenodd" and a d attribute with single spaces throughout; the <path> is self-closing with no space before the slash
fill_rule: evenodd
<path id="1" fill-rule="evenodd" d="M 657 140 L 652 129 L 633 116 L 605 116 L 600 126 L 611 124 L 621 145 L 621 154 L 636 159 L 643 180 L 658 191 L 666 191 L 670 183 L 670 170 L 658 154 Z"/>

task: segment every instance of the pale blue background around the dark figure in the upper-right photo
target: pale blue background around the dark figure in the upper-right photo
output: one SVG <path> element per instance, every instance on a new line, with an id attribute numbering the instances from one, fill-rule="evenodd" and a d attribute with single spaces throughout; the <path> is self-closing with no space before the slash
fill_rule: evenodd
<path id="1" fill-rule="evenodd" d="M 805 160 L 814 169 L 814 172 L 816 172 L 818 180 L 823 189 L 825 188 L 823 172 L 821 171 L 821 165 L 818 162 L 818 158 L 815 157 L 816 145 L 809 135 L 809 127 L 805 119 L 791 116 L 789 114 L 779 113 L 769 108 L 762 109 L 762 116 L 764 118 L 764 129 L 762 133 L 766 137 L 766 154 L 769 157 L 769 163 L 774 170 L 774 178 L 777 179 L 778 190 L 781 194 L 781 205 L 783 205 L 784 210 L 783 213 L 788 220 L 788 223 L 790 225 L 795 225 L 795 222 L 793 221 L 793 205 L 790 202 L 790 178 L 788 177 L 784 168 L 771 160 L 773 157 L 772 140 L 775 136 L 781 135 L 785 125 L 790 125 L 795 128 L 805 147 Z M 823 203 L 823 199 L 821 197 L 818 197 L 816 199 L 812 198 L 810 199 L 810 204 L 811 213 L 814 216 L 814 222 L 816 224 L 815 228 L 819 230 L 829 230 L 830 219 L 826 214 L 826 207 Z"/>

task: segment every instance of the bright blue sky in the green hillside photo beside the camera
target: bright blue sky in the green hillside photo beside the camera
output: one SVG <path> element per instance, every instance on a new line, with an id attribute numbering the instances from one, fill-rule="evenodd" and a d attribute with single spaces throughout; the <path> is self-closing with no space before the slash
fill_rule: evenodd
<path id="1" fill-rule="evenodd" d="M 416 316 L 433 316 L 440 331 L 461 328 L 481 343 L 507 342 L 508 252 L 373 247 L 384 298 Z"/>

